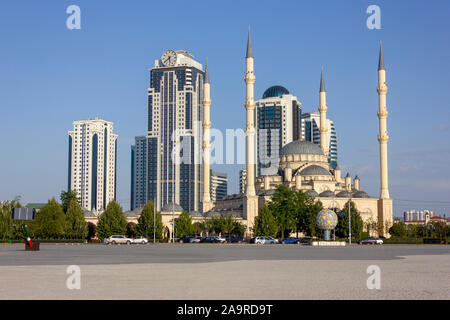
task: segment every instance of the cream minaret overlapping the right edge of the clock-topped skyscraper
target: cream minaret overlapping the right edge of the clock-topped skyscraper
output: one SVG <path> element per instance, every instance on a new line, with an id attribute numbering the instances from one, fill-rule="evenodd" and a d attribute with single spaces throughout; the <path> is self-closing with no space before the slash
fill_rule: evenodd
<path id="1" fill-rule="evenodd" d="M 210 106 L 211 106 L 211 83 L 209 81 L 208 59 L 206 59 L 205 79 L 203 81 L 203 197 L 202 211 L 207 212 L 212 209 L 210 195 L 210 157 L 211 141 L 209 129 L 211 128 Z"/>

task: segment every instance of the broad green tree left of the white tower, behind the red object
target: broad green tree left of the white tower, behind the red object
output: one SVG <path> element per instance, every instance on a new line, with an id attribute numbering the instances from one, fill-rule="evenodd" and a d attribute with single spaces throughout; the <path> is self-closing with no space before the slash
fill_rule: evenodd
<path id="1" fill-rule="evenodd" d="M 42 239 L 61 239 L 64 236 L 66 217 L 61 205 L 55 198 L 48 201 L 36 213 L 34 223 L 27 222 L 30 234 Z"/>

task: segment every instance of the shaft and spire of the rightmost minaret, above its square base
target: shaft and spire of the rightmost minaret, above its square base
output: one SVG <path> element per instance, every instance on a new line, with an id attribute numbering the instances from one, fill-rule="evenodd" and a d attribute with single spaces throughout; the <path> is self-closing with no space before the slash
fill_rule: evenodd
<path id="1" fill-rule="evenodd" d="M 380 41 L 380 57 L 378 61 L 378 118 L 380 120 L 380 133 L 378 141 L 380 142 L 380 198 L 389 199 L 388 188 L 388 164 L 387 164 L 387 143 L 389 136 L 387 134 L 387 116 L 386 107 L 386 69 L 384 67 L 383 49 Z"/>

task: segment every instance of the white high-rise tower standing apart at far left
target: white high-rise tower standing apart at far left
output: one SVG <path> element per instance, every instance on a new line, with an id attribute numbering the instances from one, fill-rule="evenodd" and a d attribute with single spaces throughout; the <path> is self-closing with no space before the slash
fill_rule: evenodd
<path id="1" fill-rule="evenodd" d="M 102 119 L 73 122 L 69 131 L 68 190 L 76 192 L 81 207 L 102 211 L 116 198 L 117 134 Z"/>

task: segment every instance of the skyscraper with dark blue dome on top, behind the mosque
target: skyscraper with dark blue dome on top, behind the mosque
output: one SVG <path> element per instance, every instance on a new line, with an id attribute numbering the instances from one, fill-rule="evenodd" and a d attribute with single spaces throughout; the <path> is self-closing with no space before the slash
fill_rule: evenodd
<path id="1" fill-rule="evenodd" d="M 256 101 L 257 175 L 278 171 L 278 154 L 300 135 L 302 104 L 281 86 L 268 88 Z"/>

